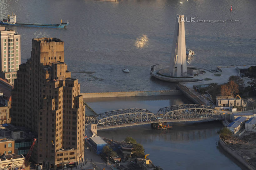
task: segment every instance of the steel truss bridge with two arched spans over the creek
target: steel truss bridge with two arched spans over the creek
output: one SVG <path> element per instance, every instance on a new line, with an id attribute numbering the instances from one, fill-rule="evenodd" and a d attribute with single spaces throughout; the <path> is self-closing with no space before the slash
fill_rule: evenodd
<path id="1" fill-rule="evenodd" d="M 94 116 L 90 124 L 97 130 L 165 122 L 191 122 L 223 120 L 219 111 L 211 106 L 198 104 L 175 105 L 161 108 L 157 113 L 147 109 L 120 109 Z"/>

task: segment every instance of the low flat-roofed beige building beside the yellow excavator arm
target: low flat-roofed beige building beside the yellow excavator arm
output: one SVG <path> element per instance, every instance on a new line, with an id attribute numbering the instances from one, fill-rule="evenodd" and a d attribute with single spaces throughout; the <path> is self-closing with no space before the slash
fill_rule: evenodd
<path id="1" fill-rule="evenodd" d="M 246 106 L 243 99 L 233 98 L 233 96 L 216 96 L 216 106 L 219 107 L 233 107 L 233 106 Z"/>

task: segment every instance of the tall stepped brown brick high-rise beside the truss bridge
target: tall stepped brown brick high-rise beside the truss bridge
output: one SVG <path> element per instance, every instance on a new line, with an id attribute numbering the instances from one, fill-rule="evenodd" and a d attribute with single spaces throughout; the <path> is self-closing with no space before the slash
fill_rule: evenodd
<path id="1" fill-rule="evenodd" d="M 85 106 L 78 79 L 64 63 L 64 42 L 32 39 L 31 58 L 20 65 L 12 91 L 12 122 L 38 135 L 31 158 L 45 168 L 84 161 Z"/>

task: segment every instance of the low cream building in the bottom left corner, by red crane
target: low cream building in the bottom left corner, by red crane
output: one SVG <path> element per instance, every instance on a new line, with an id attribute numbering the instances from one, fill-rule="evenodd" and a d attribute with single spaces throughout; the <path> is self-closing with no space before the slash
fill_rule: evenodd
<path id="1" fill-rule="evenodd" d="M 23 155 L 8 154 L 4 155 L 0 160 L 1 170 L 25 170 L 25 158 Z"/>

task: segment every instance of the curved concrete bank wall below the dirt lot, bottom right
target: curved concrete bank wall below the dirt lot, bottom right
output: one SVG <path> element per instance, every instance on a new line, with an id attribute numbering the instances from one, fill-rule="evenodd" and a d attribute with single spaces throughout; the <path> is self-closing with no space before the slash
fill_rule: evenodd
<path id="1" fill-rule="evenodd" d="M 227 144 L 225 143 L 225 141 L 223 141 L 222 138 L 219 137 L 219 145 L 221 146 L 221 148 L 223 148 L 226 152 L 228 152 L 231 156 L 233 156 L 234 158 L 236 158 L 240 163 L 242 163 L 246 168 L 248 168 L 249 170 L 255 170 L 255 168 L 253 168 L 250 164 L 248 164 L 247 162 L 245 162 L 245 160 L 240 157 L 237 153 L 235 153 L 231 148 L 229 148 L 227 146 Z"/>

